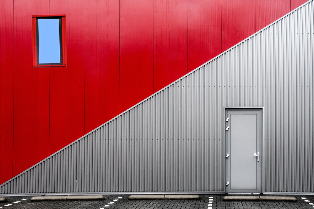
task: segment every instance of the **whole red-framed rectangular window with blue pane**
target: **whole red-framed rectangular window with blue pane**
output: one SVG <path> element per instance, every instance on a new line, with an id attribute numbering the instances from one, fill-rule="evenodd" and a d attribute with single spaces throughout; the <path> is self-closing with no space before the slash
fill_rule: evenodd
<path id="1" fill-rule="evenodd" d="M 33 15 L 34 67 L 66 67 L 65 15 Z"/>

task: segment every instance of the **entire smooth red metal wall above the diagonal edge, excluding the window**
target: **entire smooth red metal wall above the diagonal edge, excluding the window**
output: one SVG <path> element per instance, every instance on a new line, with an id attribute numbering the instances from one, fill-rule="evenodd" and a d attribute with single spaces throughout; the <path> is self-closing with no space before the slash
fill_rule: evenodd
<path id="1" fill-rule="evenodd" d="M 0 184 L 305 0 L 1 0 Z M 32 67 L 31 16 L 66 14 L 66 68 Z"/>

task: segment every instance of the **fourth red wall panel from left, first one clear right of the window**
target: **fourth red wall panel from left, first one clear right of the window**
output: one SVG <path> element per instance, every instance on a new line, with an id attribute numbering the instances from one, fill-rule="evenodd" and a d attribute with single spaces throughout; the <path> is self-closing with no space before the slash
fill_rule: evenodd
<path id="1" fill-rule="evenodd" d="M 119 0 L 85 4 L 86 134 L 119 114 L 120 7 Z"/>

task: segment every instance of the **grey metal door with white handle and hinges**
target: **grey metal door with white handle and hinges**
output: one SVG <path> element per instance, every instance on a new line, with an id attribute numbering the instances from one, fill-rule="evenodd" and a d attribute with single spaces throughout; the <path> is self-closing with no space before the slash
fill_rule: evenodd
<path id="1" fill-rule="evenodd" d="M 262 110 L 226 109 L 226 192 L 261 193 Z"/>

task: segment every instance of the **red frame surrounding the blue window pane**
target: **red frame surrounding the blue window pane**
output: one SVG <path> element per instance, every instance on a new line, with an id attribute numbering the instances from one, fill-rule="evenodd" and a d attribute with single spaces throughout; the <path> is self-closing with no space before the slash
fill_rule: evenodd
<path id="1" fill-rule="evenodd" d="M 38 65 L 37 64 L 37 24 L 36 18 L 57 17 L 62 22 L 62 65 Z M 66 67 L 67 66 L 67 32 L 66 32 L 66 15 L 32 15 L 33 28 L 33 66 L 34 67 Z"/>

